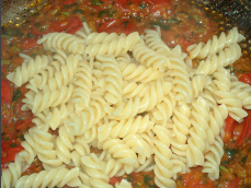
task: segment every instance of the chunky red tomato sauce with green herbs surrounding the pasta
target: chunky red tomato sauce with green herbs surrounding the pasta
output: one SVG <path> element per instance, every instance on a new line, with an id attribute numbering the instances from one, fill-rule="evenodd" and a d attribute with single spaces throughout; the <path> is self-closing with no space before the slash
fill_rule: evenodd
<path id="1" fill-rule="evenodd" d="M 31 111 L 22 111 L 22 98 L 27 92 L 25 86 L 16 87 L 5 77 L 21 66 L 20 52 L 35 57 L 49 55 L 44 51 L 37 39 L 50 32 L 73 34 L 87 22 L 95 32 L 130 33 L 160 26 L 167 45 L 186 47 L 198 42 L 206 42 L 220 32 L 223 20 L 186 0 L 54 0 L 39 12 L 31 15 L 25 23 L 5 26 L 1 30 L 1 168 L 13 162 L 16 153 L 22 151 L 23 134 L 33 127 Z M 196 64 L 195 64 L 196 66 Z M 240 58 L 229 67 L 238 78 L 251 84 L 251 60 Z M 250 113 L 249 113 L 250 114 Z M 250 117 L 251 115 L 249 115 Z M 243 122 L 227 122 L 225 154 L 220 165 L 219 180 L 210 180 L 201 167 L 192 168 L 185 175 L 179 175 L 176 185 L 183 187 L 224 188 L 251 187 L 251 139 L 250 118 Z M 50 131 L 57 134 L 56 131 Z M 94 153 L 100 151 L 92 149 Z M 9 156 L 9 157 L 7 157 Z M 36 158 L 23 173 L 38 173 L 43 167 Z M 133 173 L 123 177 L 111 178 L 111 184 L 126 178 L 134 188 L 155 188 L 153 172 Z M 67 187 L 67 186 L 66 186 Z"/>

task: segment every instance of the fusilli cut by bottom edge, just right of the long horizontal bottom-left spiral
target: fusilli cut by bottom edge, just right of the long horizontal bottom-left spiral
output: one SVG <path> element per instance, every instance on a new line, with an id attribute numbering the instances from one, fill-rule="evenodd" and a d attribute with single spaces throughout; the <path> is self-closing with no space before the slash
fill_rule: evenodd
<path id="1" fill-rule="evenodd" d="M 84 173 L 90 177 L 90 184 L 92 187 L 107 187 L 113 186 L 109 184 L 109 176 L 104 173 L 105 166 L 96 157 L 94 153 L 90 156 L 82 156 L 81 164 L 83 166 Z"/>

